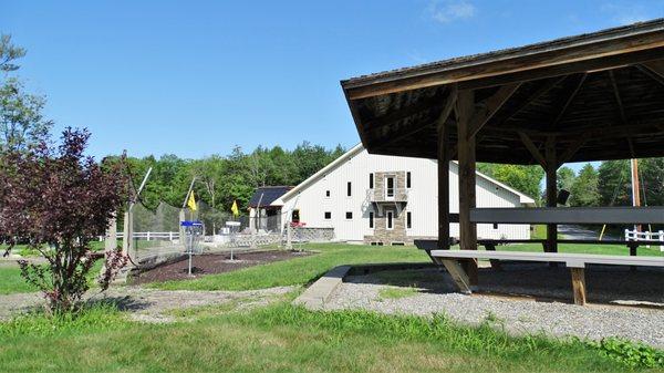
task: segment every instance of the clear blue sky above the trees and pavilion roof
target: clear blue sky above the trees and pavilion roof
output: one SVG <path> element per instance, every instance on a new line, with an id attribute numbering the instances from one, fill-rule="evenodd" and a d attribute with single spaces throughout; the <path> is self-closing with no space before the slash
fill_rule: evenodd
<path id="1" fill-rule="evenodd" d="M 342 79 L 660 17 L 662 0 L 0 0 L 20 76 L 97 157 L 350 147 Z"/>

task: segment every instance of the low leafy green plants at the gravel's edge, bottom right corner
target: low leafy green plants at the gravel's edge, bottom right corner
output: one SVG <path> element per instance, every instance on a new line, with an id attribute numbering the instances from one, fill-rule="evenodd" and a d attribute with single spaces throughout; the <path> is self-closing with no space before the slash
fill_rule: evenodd
<path id="1" fill-rule="evenodd" d="M 600 342 L 588 342 L 600 351 L 600 354 L 621 362 L 630 367 L 664 367 L 664 351 L 623 340 L 620 338 L 605 338 Z"/>

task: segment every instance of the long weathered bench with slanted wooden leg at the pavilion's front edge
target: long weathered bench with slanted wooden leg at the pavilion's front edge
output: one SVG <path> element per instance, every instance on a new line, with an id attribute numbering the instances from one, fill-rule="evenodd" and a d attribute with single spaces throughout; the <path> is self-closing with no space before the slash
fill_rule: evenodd
<path id="1" fill-rule="evenodd" d="M 664 258 L 662 257 L 478 250 L 432 250 L 429 255 L 432 258 L 436 259 L 436 261 L 439 261 L 443 266 L 445 266 L 459 290 L 465 293 L 470 293 L 475 289 L 473 289 L 470 286 L 468 274 L 460 265 L 461 260 L 489 259 L 564 263 L 571 270 L 574 303 L 581 305 L 585 304 L 584 268 L 587 265 L 646 266 L 664 268 Z"/>

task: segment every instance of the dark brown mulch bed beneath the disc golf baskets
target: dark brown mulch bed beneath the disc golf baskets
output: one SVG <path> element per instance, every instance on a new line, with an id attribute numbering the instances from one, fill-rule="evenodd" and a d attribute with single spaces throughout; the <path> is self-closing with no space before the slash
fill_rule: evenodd
<path id="1" fill-rule="evenodd" d="M 134 278 L 132 283 L 138 284 L 184 280 L 193 277 L 197 278 L 206 274 L 230 272 L 241 268 L 301 258 L 310 255 L 312 255 L 312 252 L 286 250 L 236 252 L 232 261 L 230 260 L 230 252 L 199 255 L 191 258 L 191 277 L 188 274 L 189 260 L 185 257 L 183 260 L 158 266 L 142 272 Z"/>

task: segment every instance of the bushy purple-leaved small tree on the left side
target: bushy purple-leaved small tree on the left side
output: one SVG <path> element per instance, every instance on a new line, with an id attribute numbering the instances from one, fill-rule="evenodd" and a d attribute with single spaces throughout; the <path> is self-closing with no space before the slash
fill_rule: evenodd
<path id="1" fill-rule="evenodd" d="M 79 307 L 95 262 L 90 242 L 104 235 L 123 204 L 126 178 L 121 163 L 102 167 L 84 155 L 90 133 L 68 128 L 59 146 L 42 142 L 29 151 L 0 154 L 0 241 L 6 255 L 19 244 L 38 250 L 48 265 L 21 262 L 21 273 L 37 286 L 52 312 Z M 106 289 L 126 263 L 120 251 L 100 280 Z"/>

